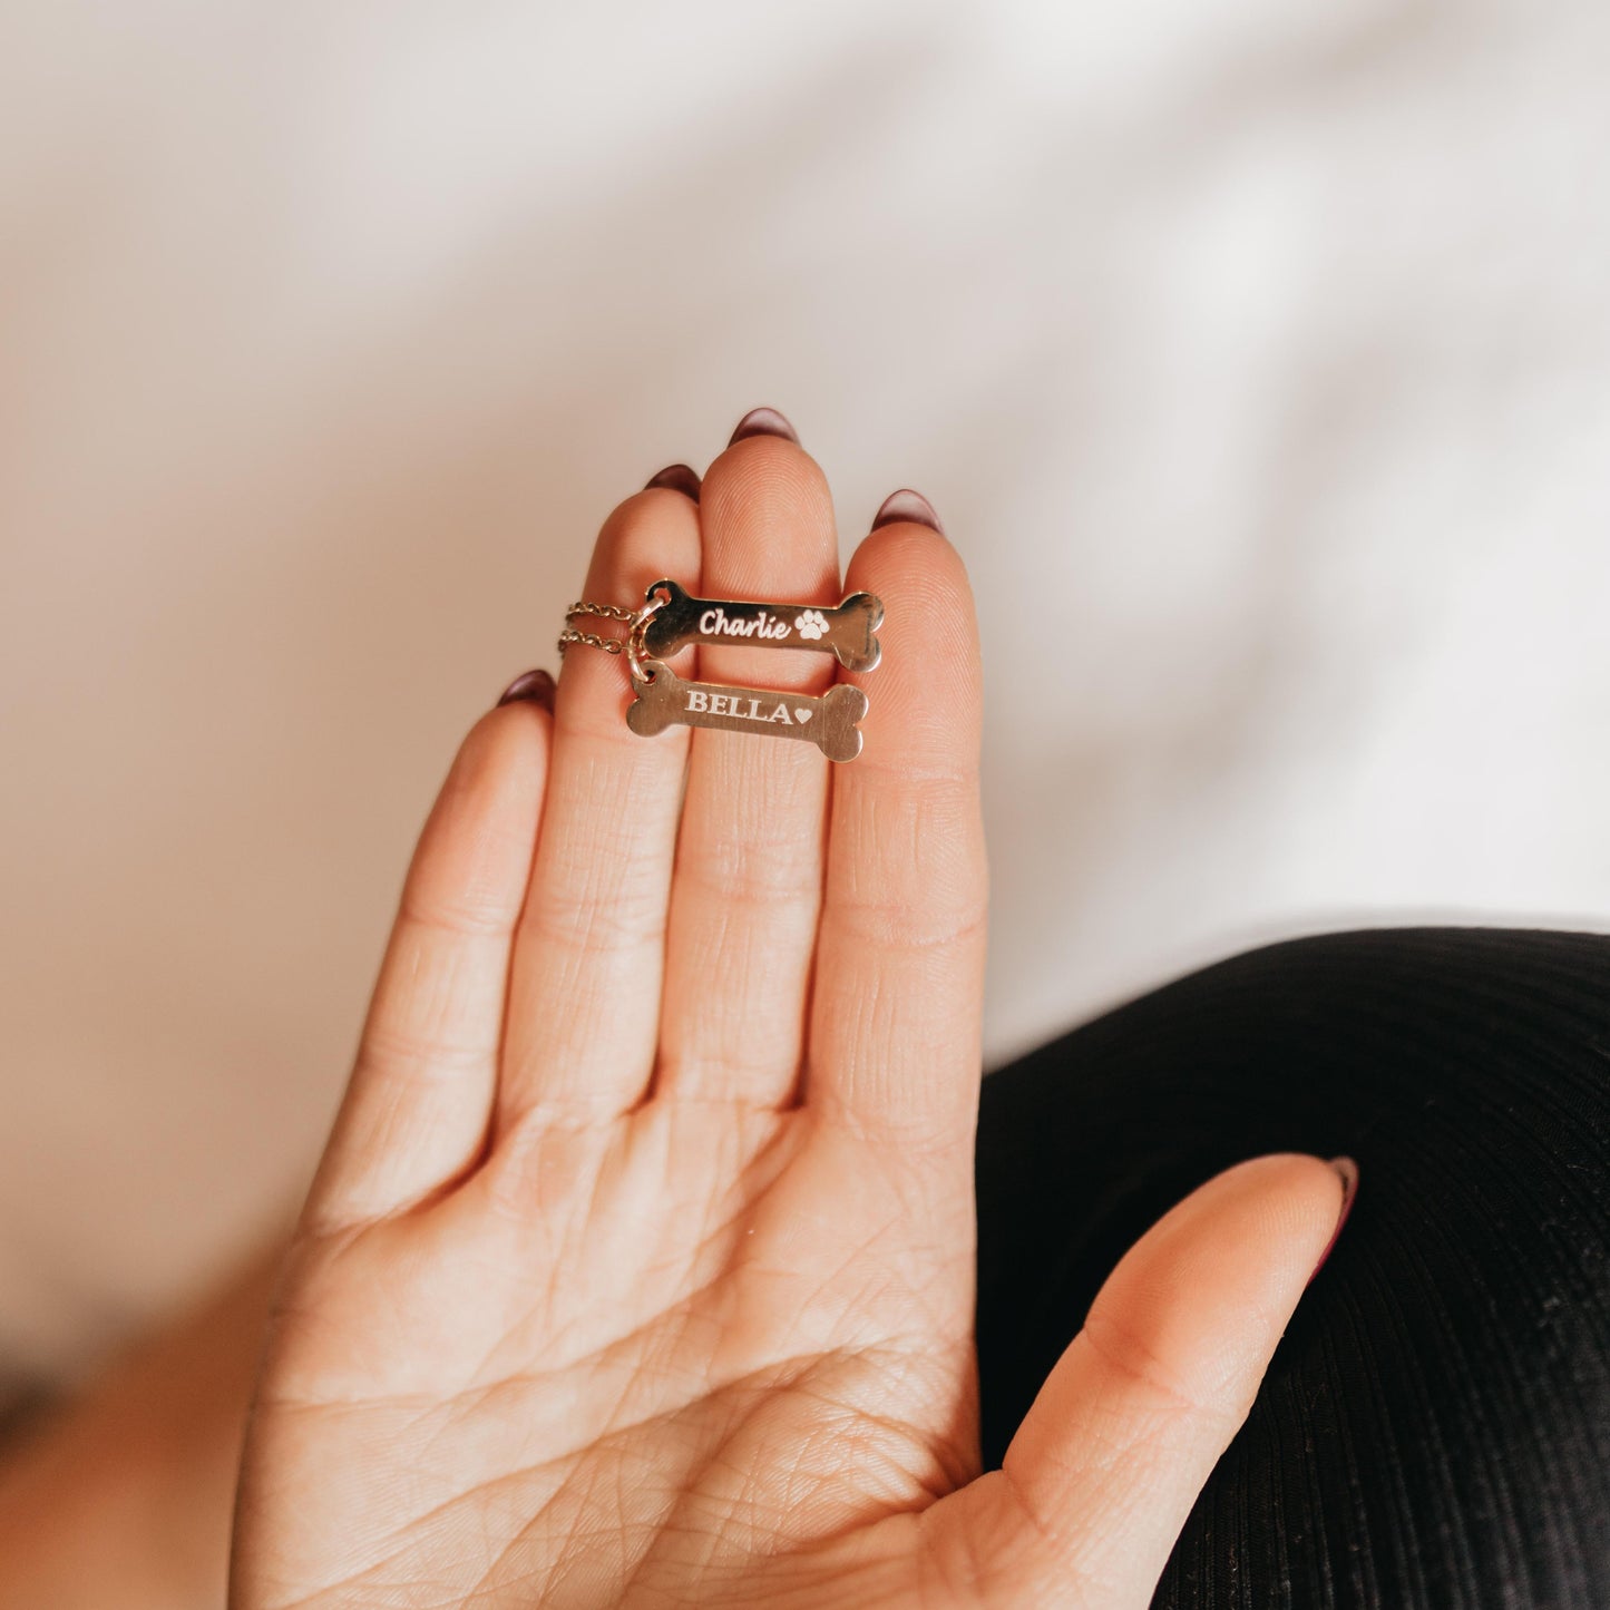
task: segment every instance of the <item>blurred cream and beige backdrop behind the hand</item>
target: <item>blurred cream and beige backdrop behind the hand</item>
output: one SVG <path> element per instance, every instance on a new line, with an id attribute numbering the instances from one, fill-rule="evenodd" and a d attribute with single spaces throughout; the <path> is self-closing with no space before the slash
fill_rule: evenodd
<path id="1" fill-rule="evenodd" d="M 0 40 L 0 1389 L 295 1199 L 459 734 L 757 404 L 971 565 L 993 1061 L 1269 937 L 1610 923 L 1596 0 Z"/>

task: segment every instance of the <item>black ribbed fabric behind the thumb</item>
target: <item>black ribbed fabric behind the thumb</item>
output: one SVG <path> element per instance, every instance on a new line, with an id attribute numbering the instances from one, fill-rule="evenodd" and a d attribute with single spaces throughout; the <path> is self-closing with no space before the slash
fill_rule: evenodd
<path id="1" fill-rule="evenodd" d="M 1130 1243 L 1285 1150 L 1357 1201 L 1154 1607 L 1610 1610 L 1605 937 L 1277 945 L 992 1074 L 985 1462 Z"/>

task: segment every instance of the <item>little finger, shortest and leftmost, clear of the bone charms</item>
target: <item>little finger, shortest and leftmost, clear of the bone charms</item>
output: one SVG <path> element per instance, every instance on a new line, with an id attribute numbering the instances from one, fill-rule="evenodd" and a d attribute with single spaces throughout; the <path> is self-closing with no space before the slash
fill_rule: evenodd
<path id="1" fill-rule="evenodd" d="M 464 741 L 414 852 L 309 1198 L 316 1230 L 401 1212 L 483 1150 L 551 733 L 530 678 L 510 692 Z"/>

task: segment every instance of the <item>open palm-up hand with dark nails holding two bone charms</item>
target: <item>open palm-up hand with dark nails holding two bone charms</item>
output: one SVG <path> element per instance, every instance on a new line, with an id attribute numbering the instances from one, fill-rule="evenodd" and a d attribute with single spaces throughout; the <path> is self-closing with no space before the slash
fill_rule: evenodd
<path id="1" fill-rule="evenodd" d="M 892 523 L 840 588 L 821 473 L 758 436 L 702 506 L 621 504 L 584 596 L 658 576 L 881 596 L 865 753 L 636 737 L 584 647 L 552 721 L 469 736 L 283 1275 L 232 1604 L 1143 1607 L 1336 1175 L 1261 1158 L 1170 1212 L 980 1475 L 961 562 Z M 700 676 L 832 671 L 721 647 Z"/>

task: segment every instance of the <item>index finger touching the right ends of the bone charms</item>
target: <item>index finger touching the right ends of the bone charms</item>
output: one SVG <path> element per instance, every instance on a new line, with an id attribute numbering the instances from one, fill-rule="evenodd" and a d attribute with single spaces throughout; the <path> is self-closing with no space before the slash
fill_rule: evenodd
<path id="1" fill-rule="evenodd" d="M 987 903 L 972 596 L 950 543 L 908 520 L 861 543 L 845 588 L 884 601 L 884 655 L 852 678 L 865 747 L 834 774 L 805 1100 L 963 1145 Z"/>

